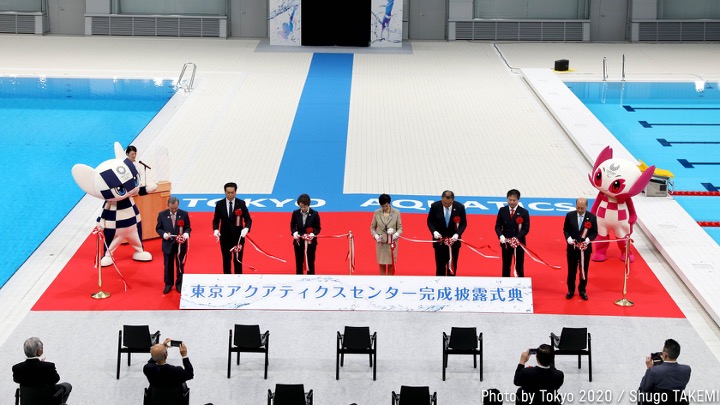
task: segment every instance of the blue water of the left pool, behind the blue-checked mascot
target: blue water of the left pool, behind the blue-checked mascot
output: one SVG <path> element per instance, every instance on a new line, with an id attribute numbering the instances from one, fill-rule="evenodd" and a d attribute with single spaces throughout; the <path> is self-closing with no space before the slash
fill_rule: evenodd
<path id="1" fill-rule="evenodd" d="M 0 286 L 83 197 L 72 166 L 111 158 L 174 92 L 171 81 L 0 77 Z"/>

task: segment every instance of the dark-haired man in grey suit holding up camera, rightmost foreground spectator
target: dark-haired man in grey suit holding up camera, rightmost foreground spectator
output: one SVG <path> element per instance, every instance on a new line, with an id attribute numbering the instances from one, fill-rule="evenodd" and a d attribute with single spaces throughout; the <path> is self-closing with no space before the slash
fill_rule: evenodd
<path id="1" fill-rule="evenodd" d="M 677 358 L 680 356 L 680 343 L 674 339 L 668 339 L 663 345 L 662 353 L 660 358 L 662 362 L 655 364 L 652 356 L 645 358 L 645 376 L 640 381 L 640 392 L 641 393 L 657 393 L 672 391 L 670 401 L 675 399 L 681 399 L 681 391 L 685 389 L 688 382 L 690 382 L 690 366 L 685 364 L 679 364 Z M 638 401 L 641 402 L 641 401 Z"/>

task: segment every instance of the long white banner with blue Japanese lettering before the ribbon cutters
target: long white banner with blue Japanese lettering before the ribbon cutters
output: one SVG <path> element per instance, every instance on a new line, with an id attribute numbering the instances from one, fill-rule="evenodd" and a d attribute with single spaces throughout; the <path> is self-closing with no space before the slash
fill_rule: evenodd
<path id="1" fill-rule="evenodd" d="M 185 274 L 180 309 L 532 313 L 530 278 Z"/>

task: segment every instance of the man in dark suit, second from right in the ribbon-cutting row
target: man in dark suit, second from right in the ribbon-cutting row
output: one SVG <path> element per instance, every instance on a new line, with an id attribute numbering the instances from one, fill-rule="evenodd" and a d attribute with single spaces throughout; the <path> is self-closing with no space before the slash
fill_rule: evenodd
<path id="1" fill-rule="evenodd" d="M 507 192 L 508 205 L 498 210 L 495 220 L 495 234 L 500 239 L 502 250 L 502 276 L 510 277 L 513 257 L 515 257 L 515 271 L 518 277 L 525 277 L 525 251 L 521 247 L 514 247 L 512 238 L 526 245 L 525 237 L 530 232 L 530 213 L 520 204 L 520 192 L 512 189 Z"/>

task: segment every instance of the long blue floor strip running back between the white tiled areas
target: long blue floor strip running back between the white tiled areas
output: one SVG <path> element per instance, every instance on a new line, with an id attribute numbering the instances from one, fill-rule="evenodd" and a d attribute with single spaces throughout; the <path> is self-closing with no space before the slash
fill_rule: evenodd
<path id="1" fill-rule="evenodd" d="M 352 54 L 313 55 L 273 193 L 342 193 L 352 65 Z"/>

